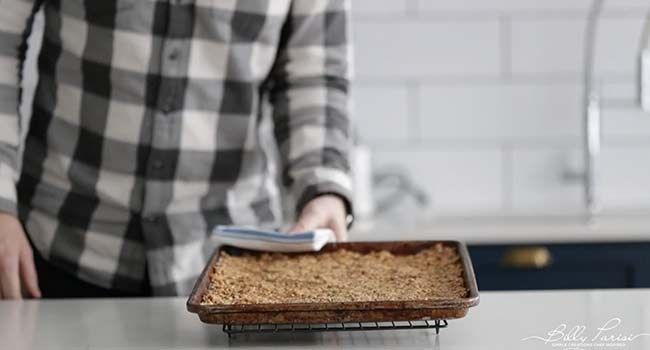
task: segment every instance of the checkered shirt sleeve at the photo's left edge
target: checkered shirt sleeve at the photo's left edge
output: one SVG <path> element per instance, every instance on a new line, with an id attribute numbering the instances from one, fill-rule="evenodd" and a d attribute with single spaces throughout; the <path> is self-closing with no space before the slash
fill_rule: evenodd
<path id="1" fill-rule="evenodd" d="M 38 0 L 0 0 L 0 212 L 16 214 L 22 65 Z"/>

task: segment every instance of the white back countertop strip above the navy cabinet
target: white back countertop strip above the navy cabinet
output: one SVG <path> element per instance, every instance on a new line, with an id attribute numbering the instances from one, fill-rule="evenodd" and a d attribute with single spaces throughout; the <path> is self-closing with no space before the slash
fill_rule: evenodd
<path id="1" fill-rule="evenodd" d="M 472 216 L 359 221 L 352 240 L 450 239 L 469 244 L 650 242 L 650 213 Z"/>

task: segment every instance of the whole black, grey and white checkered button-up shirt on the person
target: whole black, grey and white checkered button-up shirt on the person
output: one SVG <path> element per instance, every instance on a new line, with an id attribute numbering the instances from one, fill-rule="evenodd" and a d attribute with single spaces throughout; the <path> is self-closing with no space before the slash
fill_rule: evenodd
<path id="1" fill-rule="evenodd" d="M 146 270 L 154 294 L 188 293 L 215 225 L 282 221 L 278 172 L 299 208 L 349 198 L 347 6 L 0 0 L 0 210 L 81 279 L 138 290 Z M 19 171 L 18 72 L 38 8 Z"/>

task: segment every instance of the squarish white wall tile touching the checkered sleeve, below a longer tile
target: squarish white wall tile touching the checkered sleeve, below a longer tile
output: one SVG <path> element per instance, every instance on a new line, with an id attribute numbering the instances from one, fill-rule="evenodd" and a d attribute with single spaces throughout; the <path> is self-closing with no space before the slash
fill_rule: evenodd
<path id="1" fill-rule="evenodd" d="M 361 141 L 371 145 L 409 139 L 408 91 L 405 84 L 353 87 L 353 117 Z"/>

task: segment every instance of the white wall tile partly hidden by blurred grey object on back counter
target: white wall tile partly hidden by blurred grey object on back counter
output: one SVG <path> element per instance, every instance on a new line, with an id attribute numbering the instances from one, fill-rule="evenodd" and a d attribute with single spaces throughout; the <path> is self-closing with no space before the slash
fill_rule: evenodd
<path id="1" fill-rule="evenodd" d="M 502 208 L 502 153 L 498 149 L 375 152 L 374 168 L 403 168 L 429 195 L 438 213 Z"/>

